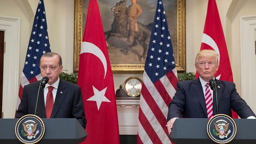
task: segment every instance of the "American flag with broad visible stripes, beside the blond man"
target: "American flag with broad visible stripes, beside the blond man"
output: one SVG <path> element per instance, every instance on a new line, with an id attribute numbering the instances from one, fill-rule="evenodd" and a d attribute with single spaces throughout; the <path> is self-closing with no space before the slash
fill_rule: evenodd
<path id="1" fill-rule="evenodd" d="M 158 0 L 140 96 L 138 144 L 170 144 L 168 104 L 176 92 L 177 70 L 162 0 Z"/>

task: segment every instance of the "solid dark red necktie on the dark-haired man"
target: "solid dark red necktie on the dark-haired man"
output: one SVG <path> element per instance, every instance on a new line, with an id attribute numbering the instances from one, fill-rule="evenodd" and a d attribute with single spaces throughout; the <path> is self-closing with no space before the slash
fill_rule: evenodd
<path id="1" fill-rule="evenodd" d="M 45 112 L 46 112 L 46 118 L 50 118 L 52 114 L 52 108 L 53 108 L 53 95 L 52 90 L 54 89 L 53 86 L 48 86 L 48 93 L 46 96 L 46 104 L 45 104 Z"/>

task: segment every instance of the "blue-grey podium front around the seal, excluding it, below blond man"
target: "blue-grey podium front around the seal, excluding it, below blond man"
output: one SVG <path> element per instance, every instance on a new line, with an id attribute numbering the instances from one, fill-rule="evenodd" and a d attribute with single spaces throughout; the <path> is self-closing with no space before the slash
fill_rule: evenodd
<path id="1" fill-rule="evenodd" d="M 175 144 L 216 144 L 207 134 L 208 118 L 178 118 L 175 120 L 171 140 Z M 234 119 L 236 136 L 228 144 L 256 144 L 256 119 Z"/>

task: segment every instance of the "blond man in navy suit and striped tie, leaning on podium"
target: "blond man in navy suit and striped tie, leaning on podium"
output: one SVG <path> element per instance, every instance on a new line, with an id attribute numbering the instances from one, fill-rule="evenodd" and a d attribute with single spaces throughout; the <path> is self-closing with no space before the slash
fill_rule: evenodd
<path id="1" fill-rule="evenodd" d="M 219 67 L 218 54 L 214 50 L 200 51 L 196 55 L 195 66 L 199 77 L 195 80 L 178 82 L 176 94 L 169 104 L 167 116 L 169 134 L 174 121 L 181 116 L 182 118 L 211 118 L 216 114 L 226 114 L 232 117 L 232 110 L 234 110 L 240 118 L 256 117 L 236 92 L 234 83 L 217 80 L 214 77 Z M 213 90 L 209 88 L 211 79 L 215 79 L 216 82 L 218 113 Z"/>

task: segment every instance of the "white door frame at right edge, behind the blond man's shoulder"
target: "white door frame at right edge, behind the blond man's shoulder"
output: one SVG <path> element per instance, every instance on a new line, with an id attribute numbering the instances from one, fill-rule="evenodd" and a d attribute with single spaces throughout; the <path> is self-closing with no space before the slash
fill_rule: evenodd
<path id="1" fill-rule="evenodd" d="M 256 15 L 240 18 L 241 91 L 242 98 L 256 112 Z"/>

